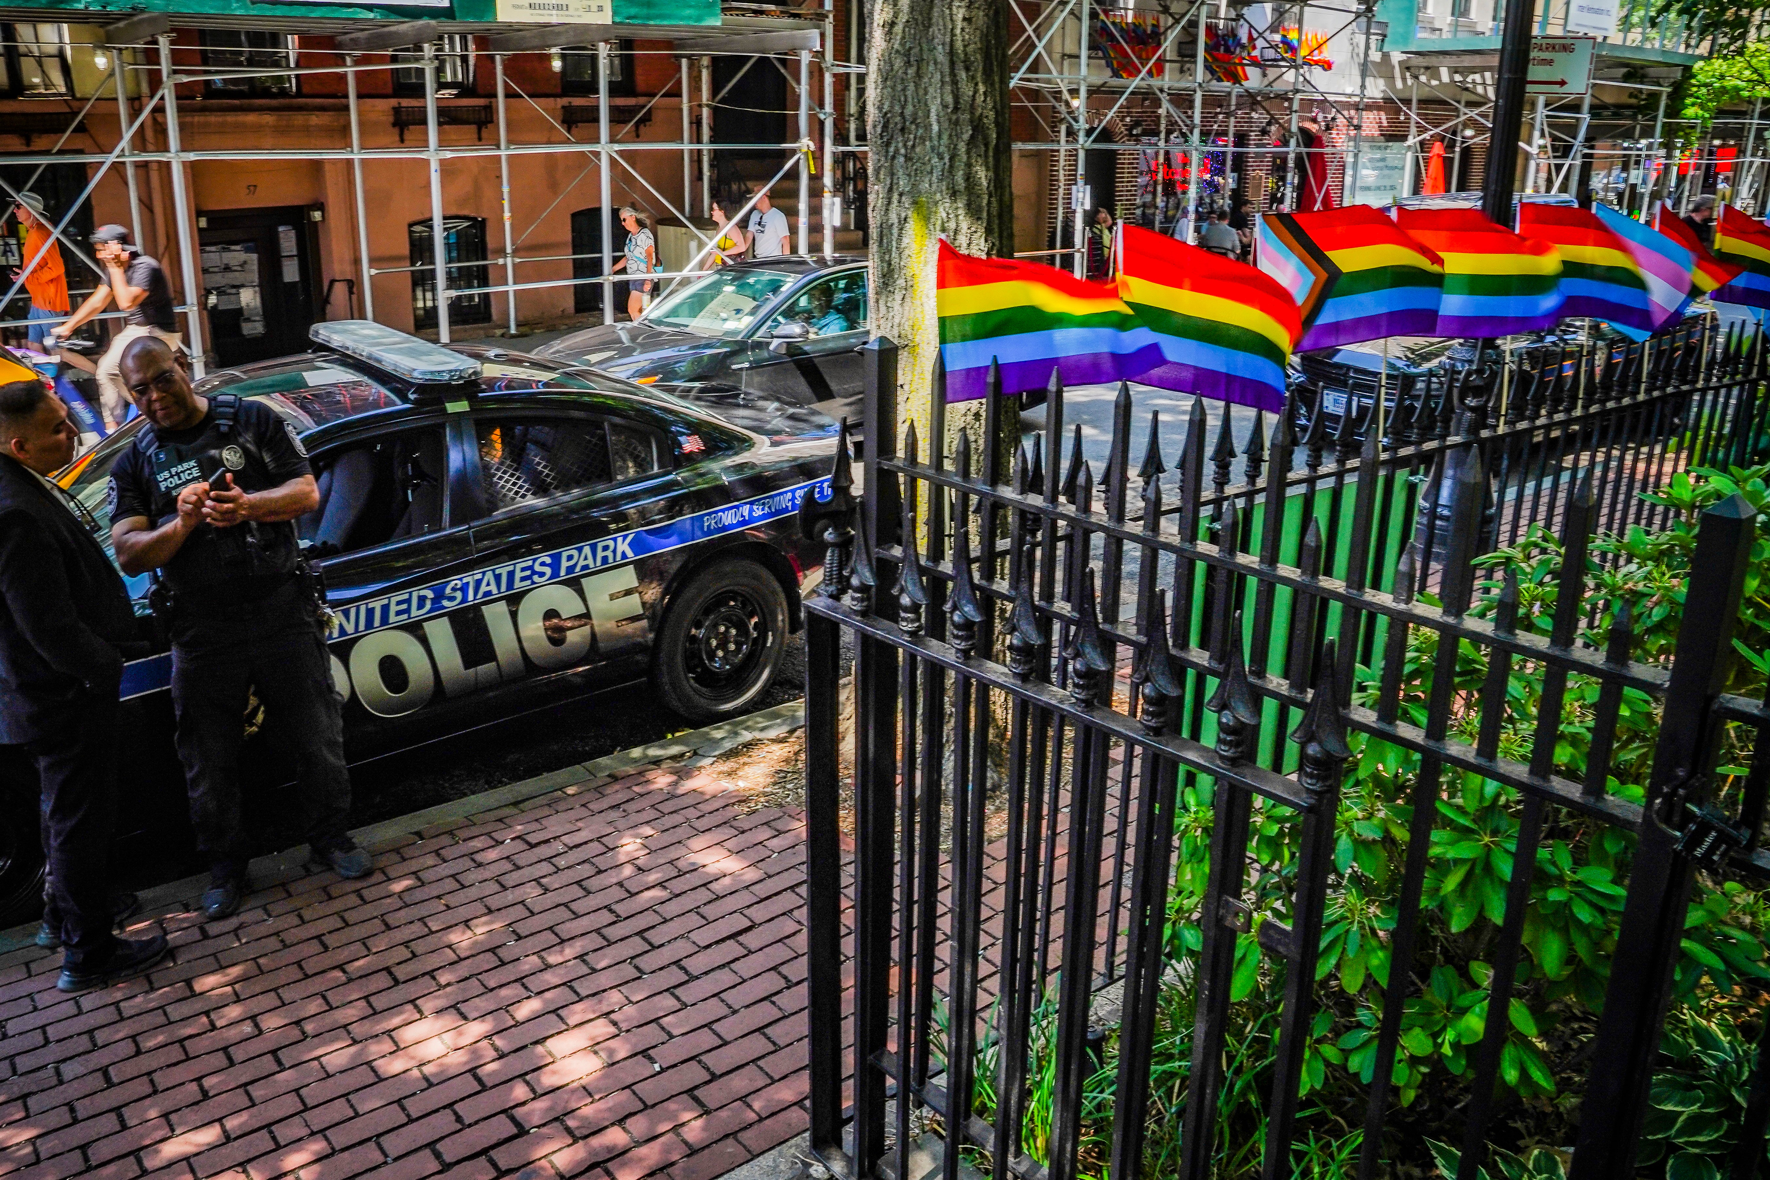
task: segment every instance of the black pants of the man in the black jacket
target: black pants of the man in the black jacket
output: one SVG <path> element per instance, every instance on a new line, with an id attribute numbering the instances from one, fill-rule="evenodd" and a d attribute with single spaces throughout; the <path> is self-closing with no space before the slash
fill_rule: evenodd
<path id="1" fill-rule="evenodd" d="M 62 962 L 104 962 L 112 934 L 110 840 L 117 816 L 117 693 L 81 702 L 76 731 L 30 743 L 42 787 L 42 851 Z"/>

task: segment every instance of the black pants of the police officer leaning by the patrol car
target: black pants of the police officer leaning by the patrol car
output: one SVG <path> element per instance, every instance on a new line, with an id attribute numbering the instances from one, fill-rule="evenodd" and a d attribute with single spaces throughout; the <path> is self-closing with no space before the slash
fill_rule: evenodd
<path id="1" fill-rule="evenodd" d="M 239 748 L 251 690 L 269 736 L 294 757 L 308 842 L 326 847 L 345 833 L 350 773 L 331 662 L 296 582 L 250 603 L 181 603 L 172 624 L 172 704 L 191 826 L 209 863 L 230 872 L 248 856 Z"/>

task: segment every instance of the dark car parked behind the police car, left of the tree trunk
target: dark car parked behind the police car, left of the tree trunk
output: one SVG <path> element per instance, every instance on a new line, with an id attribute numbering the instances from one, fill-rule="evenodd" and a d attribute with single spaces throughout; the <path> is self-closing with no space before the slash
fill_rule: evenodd
<path id="1" fill-rule="evenodd" d="M 756 258 L 666 294 L 632 324 L 561 336 L 538 356 L 651 382 L 724 382 L 860 423 L 867 265 Z"/>

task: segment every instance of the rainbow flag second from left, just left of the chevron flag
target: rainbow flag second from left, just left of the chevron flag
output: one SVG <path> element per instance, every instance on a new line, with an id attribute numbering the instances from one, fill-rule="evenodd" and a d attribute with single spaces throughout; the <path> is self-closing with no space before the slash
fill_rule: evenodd
<path id="1" fill-rule="evenodd" d="M 1135 380 L 1274 412 L 1283 407 L 1285 361 L 1303 322 L 1290 292 L 1273 278 L 1122 225 L 1119 295 L 1161 349 L 1161 363 Z"/>

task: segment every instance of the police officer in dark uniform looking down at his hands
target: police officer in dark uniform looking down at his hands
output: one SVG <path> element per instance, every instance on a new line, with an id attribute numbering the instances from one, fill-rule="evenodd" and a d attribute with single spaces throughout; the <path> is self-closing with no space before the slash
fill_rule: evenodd
<path id="1" fill-rule="evenodd" d="M 159 570 L 172 628 L 172 702 L 191 824 L 211 862 L 204 913 L 239 909 L 246 883 L 239 748 L 248 692 L 296 754 L 315 867 L 370 870 L 345 833 L 343 720 L 297 570 L 294 520 L 319 506 L 294 425 L 235 395 L 198 396 L 158 338 L 129 343 L 124 386 L 147 426 L 112 469 L 112 541 L 124 573 Z"/>

